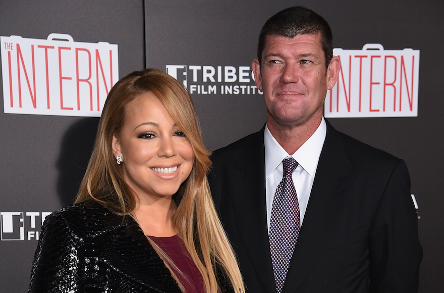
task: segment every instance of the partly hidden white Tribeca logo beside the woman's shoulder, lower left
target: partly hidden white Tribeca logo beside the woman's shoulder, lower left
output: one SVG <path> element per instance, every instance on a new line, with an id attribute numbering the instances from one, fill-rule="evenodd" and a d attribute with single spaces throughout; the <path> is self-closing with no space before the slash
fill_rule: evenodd
<path id="1" fill-rule="evenodd" d="M 25 222 L 27 239 L 38 240 L 40 225 L 36 220 L 40 218 L 41 224 L 50 212 L 0 212 L 1 240 L 25 240 Z M 26 215 L 26 216 L 25 216 Z M 26 221 L 25 221 L 26 220 Z"/>

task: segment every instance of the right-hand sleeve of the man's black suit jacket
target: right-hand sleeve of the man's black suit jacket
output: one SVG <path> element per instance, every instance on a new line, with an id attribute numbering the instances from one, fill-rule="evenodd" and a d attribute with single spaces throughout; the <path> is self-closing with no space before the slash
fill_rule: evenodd
<path id="1" fill-rule="evenodd" d="M 370 291 L 418 291 L 422 247 L 403 160 L 395 166 L 380 199 L 370 236 Z"/>

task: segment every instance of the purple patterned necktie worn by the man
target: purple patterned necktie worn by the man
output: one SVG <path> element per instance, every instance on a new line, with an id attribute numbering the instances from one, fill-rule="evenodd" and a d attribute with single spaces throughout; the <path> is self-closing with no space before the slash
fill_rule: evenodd
<path id="1" fill-rule="evenodd" d="M 274 192 L 270 221 L 270 252 L 276 289 L 281 293 L 301 229 L 299 202 L 292 174 L 298 166 L 293 158 L 284 159 L 284 177 Z"/>

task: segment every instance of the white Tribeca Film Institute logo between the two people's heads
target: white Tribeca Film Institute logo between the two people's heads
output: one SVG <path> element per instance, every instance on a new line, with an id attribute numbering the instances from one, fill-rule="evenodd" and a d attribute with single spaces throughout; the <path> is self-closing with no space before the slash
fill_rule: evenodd
<path id="1" fill-rule="evenodd" d="M 262 94 L 249 66 L 167 65 L 191 94 Z"/>

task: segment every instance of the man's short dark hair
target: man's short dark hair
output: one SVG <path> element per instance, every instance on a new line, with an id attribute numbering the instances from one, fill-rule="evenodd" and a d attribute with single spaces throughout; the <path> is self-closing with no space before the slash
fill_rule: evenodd
<path id="1" fill-rule="evenodd" d="M 267 35 L 294 38 L 301 34 L 318 34 L 322 51 L 325 55 L 325 67 L 328 67 L 333 57 L 333 35 L 325 19 L 314 11 L 302 7 L 290 7 L 270 17 L 262 27 L 257 45 L 257 58 L 261 62 L 262 52 Z"/>

